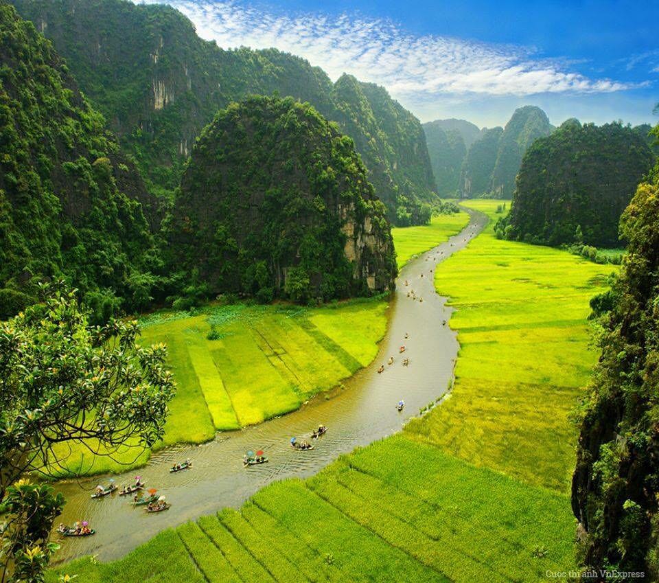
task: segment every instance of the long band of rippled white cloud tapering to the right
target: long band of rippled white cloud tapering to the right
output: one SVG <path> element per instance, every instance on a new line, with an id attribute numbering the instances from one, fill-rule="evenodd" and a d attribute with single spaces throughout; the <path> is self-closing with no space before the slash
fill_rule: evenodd
<path id="1" fill-rule="evenodd" d="M 151 3 L 157 0 L 141 0 Z M 410 104 L 448 95 L 610 93 L 634 87 L 570 71 L 532 47 L 413 36 L 389 21 L 319 13 L 281 15 L 240 0 L 170 0 L 198 34 L 220 47 L 275 47 L 308 59 L 332 79 L 351 73 Z"/>

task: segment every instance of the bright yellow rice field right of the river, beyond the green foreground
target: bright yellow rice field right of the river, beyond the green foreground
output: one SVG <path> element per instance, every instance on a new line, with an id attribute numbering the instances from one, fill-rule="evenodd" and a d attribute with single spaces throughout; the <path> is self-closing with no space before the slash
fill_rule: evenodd
<path id="1" fill-rule="evenodd" d="M 415 439 L 527 483 L 568 492 L 570 412 L 597 359 L 589 300 L 616 267 L 549 247 L 497 240 L 500 201 L 467 201 L 492 218 L 435 272 L 461 345 L 452 398 L 407 427 Z"/>

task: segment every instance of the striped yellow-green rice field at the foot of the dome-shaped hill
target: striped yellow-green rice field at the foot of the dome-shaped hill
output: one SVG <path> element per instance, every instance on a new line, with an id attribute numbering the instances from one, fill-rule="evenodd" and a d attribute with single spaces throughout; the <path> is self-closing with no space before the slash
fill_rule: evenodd
<path id="1" fill-rule="evenodd" d="M 295 409 L 373 361 L 386 332 L 384 299 L 320 308 L 209 306 L 198 315 L 157 312 L 141 319 L 141 342 L 164 342 L 176 379 L 158 448 L 200 443 L 216 431 L 257 424 Z M 345 322 L 350 325 L 346 326 Z M 214 340 L 207 336 L 213 330 Z M 122 448 L 112 457 L 87 448 L 58 452 L 56 477 L 126 471 L 150 452 Z M 68 447 L 68 446 L 67 446 Z"/>

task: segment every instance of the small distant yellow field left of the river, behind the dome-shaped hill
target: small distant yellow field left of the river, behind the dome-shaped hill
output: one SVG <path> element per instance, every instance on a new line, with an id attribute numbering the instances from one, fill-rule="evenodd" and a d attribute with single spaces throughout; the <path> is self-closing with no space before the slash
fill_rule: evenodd
<path id="1" fill-rule="evenodd" d="M 469 215 L 461 211 L 456 214 L 433 216 L 430 219 L 430 225 L 391 229 L 398 268 L 400 269 L 419 253 L 424 253 L 457 235 L 467 226 L 468 222 Z"/>

